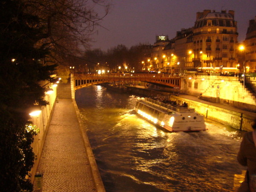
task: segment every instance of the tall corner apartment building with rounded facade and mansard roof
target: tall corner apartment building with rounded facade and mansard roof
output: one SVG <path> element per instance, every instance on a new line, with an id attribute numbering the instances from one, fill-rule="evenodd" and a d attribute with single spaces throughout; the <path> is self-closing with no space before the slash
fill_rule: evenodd
<path id="1" fill-rule="evenodd" d="M 201 67 L 236 67 L 237 37 L 234 11 L 198 12 L 193 28 L 195 64 L 201 64 Z"/>

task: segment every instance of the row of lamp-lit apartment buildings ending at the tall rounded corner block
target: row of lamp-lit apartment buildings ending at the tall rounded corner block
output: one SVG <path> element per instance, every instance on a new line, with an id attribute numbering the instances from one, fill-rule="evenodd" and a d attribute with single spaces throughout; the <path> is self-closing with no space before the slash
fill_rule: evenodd
<path id="1" fill-rule="evenodd" d="M 204 10 L 196 14 L 195 25 L 182 29 L 176 37 L 157 36 L 151 59 L 155 67 L 171 73 L 203 70 L 237 72 L 237 22 L 234 11 Z"/>

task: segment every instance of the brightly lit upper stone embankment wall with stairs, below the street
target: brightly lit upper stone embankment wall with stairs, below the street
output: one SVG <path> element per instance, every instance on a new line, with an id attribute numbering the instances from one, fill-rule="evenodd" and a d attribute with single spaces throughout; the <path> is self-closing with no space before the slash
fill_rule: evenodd
<path id="1" fill-rule="evenodd" d="M 251 78 L 250 81 L 254 82 L 255 79 Z M 239 77 L 187 75 L 182 78 L 181 84 L 181 91 L 188 95 L 200 96 L 209 102 L 256 111 L 255 96 L 239 81 Z"/>

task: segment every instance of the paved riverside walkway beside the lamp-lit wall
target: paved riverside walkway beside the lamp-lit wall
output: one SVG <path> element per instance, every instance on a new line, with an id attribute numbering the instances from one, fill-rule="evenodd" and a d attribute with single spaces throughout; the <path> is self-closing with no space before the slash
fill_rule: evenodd
<path id="1" fill-rule="evenodd" d="M 44 192 L 105 192 L 83 129 L 70 83 L 57 88 L 57 101 L 37 172 Z"/>

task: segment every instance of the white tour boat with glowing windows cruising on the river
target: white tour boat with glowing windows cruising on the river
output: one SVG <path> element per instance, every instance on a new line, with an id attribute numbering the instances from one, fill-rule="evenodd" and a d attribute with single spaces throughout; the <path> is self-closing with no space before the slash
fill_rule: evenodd
<path id="1" fill-rule="evenodd" d="M 205 131 L 204 116 L 192 108 L 174 107 L 153 99 L 137 101 L 134 108 L 140 116 L 149 122 L 169 131 Z"/>

